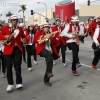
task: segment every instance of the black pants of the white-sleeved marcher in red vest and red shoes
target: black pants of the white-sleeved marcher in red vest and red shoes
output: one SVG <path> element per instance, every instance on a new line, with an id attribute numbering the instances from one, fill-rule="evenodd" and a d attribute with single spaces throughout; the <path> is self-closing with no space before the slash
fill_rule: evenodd
<path id="1" fill-rule="evenodd" d="M 72 50 L 72 53 L 73 53 L 72 71 L 75 71 L 76 64 L 79 62 L 79 57 L 78 57 L 79 46 L 75 42 L 67 43 L 67 46 L 69 50 Z"/>

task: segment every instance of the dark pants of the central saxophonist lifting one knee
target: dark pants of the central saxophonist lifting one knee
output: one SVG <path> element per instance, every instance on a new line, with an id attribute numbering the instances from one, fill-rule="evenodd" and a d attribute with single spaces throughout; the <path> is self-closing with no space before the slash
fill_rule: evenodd
<path id="1" fill-rule="evenodd" d="M 52 54 L 47 49 L 43 49 L 40 52 L 40 56 L 44 57 L 46 60 L 46 72 L 44 76 L 44 83 L 47 83 L 50 81 L 50 78 L 47 76 L 47 74 L 50 72 L 52 73 L 52 68 L 53 68 Z"/>

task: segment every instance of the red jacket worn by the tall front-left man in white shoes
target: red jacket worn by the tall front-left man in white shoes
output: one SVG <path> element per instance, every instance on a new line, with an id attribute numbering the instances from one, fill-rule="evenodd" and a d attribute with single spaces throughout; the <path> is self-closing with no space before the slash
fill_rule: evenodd
<path id="1" fill-rule="evenodd" d="M 11 44 L 10 45 L 5 45 L 4 46 L 4 55 L 10 55 L 13 52 L 15 43 L 17 44 L 18 48 L 22 51 L 22 45 L 21 45 L 21 38 L 25 38 L 24 31 L 21 27 L 19 29 L 19 34 L 17 37 L 14 39 L 14 37 L 11 39 Z M 4 40 L 6 35 L 11 34 L 11 27 L 5 26 L 2 30 L 2 33 L 0 34 L 0 40 Z"/>

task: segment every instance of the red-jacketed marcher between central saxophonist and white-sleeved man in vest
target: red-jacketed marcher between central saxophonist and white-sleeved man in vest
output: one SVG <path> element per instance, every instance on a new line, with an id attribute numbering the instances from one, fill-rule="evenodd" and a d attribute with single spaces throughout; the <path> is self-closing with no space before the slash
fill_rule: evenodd
<path id="1" fill-rule="evenodd" d="M 55 21 L 56 26 L 52 27 L 52 32 L 58 31 L 58 33 L 55 35 L 57 44 L 56 44 L 56 49 L 57 52 L 59 53 L 59 50 L 61 48 L 61 54 L 62 54 L 62 65 L 66 67 L 65 63 L 65 50 L 66 50 L 66 40 L 63 37 L 60 37 L 61 32 L 63 31 L 64 27 L 61 26 L 61 20 L 60 18 L 57 18 Z"/>

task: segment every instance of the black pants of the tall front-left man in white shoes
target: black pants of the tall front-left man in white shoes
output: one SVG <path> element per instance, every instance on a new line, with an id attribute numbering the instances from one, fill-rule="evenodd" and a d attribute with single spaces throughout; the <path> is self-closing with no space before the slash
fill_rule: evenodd
<path id="1" fill-rule="evenodd" d="M 9 85 L 13 85 L 13 73 L 12 64 L 14 65 L 16 72 L 16 84 L 22 84 L 21 77 L 21 62 L 22 62 L 22 52 L 15 46 L 11 55 L 4 55 L 4 59 L 7 65 L 7 80 Z"/>

